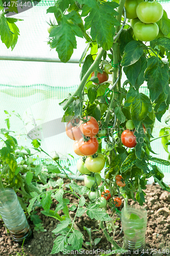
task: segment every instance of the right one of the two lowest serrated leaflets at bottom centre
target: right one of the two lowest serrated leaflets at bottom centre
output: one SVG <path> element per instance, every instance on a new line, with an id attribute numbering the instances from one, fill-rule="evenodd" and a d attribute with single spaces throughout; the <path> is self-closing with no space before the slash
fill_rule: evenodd
<path id="1" fill-rule="evenodd" d="M 83 243 L 83 234 L 78 230 L 73 230 L 71 236 L 68 238 L 68 244 L 71 244 L 75 250 L 80 250 Z"/>

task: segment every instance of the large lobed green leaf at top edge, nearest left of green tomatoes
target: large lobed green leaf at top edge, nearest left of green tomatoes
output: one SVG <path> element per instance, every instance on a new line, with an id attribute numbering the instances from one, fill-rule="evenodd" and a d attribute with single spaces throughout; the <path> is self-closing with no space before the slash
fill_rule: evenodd
<path id="1" fill-rule="evenodd" d="M 113 36 L 115 35 L 114 26 L 119 25 L 114 17 L 118 15 L 114 10 L 114 8 L 118 7 L 118 4 L 115 2 L 95 2 L 94 0 L 82 2 L 86 2 L 88 6 L 93 2 L 93 7 L 90 7 L 92 8 L 90 9 L 90 14 L 85 18 L 85 30 L 91 27 L 90 35 L 92 40 L 96 40 L 104 50 L 109 50 L 112 47 Z M 84 15 L 84 12 L 82 15 Z M 96 27 L 100 29 L 96 29 Z"/>

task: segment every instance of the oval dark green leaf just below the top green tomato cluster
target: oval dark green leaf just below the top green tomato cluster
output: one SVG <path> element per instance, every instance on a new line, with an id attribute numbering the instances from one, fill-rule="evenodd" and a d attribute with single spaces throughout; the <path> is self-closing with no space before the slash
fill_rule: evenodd
<path id="1" fill-rule="evenodd" d="M 143 54 L 143 48 L 140 42 L 130 41 L 129 44 L 125 47 L 123 59 L 121 66 L 130 66 L 134 64 Z"/>

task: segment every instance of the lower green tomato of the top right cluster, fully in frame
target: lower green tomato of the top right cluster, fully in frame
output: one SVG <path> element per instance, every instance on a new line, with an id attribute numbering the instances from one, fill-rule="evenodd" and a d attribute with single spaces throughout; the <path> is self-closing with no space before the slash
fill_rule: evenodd
<path id="1" fill-rule="evenodd" d="M 156 23 L 145 24 L 137 22 L 133 27 L 134 35 L 140 41 L 152 41 L 158 33 L 159 28 Z"/>

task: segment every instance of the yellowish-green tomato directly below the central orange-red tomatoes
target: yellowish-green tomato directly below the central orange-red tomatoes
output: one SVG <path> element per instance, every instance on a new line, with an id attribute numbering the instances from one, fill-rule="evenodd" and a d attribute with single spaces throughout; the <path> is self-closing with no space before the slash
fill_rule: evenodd
<path id="1" fill-rule="evenodd" d="M 105 158 L 99 153 L 97 156 L 89 156 L 86 158 L 86 167 L 90 172 L 99 173 L 105 166 Z"/>

